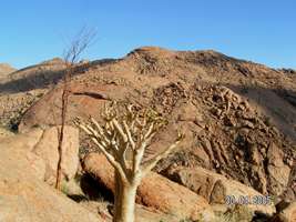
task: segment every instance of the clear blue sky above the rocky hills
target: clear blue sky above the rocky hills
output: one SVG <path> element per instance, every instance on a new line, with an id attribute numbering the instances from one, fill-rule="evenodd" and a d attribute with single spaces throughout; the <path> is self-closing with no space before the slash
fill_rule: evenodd
<path id="1" fill-rule="evenodd" d="M 17 68 L 61 57 L 83 26 L 91 60 L 159 46 L 296 68 L 296 0 L 2 0 L 0 22 L 0 62 Z"/>

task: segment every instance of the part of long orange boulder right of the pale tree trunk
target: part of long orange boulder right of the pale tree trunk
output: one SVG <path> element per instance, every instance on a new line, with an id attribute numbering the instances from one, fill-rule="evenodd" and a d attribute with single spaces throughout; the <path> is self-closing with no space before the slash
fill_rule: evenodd
<path id="1" fill-rule="evenodd" d="M 200 219 L 201 213 L 210 210 L 207 202 L 201 195 L 153 172 L 142 180 L 136 202 L 192 220 Z"/>

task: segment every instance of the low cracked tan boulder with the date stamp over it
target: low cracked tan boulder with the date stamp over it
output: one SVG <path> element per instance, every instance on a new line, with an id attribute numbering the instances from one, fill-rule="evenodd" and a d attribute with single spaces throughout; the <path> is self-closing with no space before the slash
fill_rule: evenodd
<path id="1" fill-rule="evenodd" d="M 205 170 L 203 168 L 178 168 L 167 172 L 174 181 L 204 196 L 211 204 L 233 205 L 235 202 L 246 205 L 251 211 L 272 215 L 275 205 L 272 199 L 237 181 Z M 235 201 L 231 203 L 231 201 Z M 245 201 L 249 201 L 246 203 Z M 257 202 L 258 204 L 255 204 Z"/>

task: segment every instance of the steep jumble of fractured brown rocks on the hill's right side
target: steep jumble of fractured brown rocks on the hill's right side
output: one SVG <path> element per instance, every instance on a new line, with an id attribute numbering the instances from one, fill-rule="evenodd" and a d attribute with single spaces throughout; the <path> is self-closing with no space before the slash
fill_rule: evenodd
<path id="1" fill-rule="evenodd" d="M 208 117 L 214 117 L 216 122 L 197 122 L 203 128 L 200 131 L 190 128 L 186 134 L 192 149 L 169 157 L 157 171 L 172 165 L 200 165 L 253 186 L 263 194 L 282 194 L 296 158 L 295 151 L 288 148 L 293 144 L 284 145 L 280 133 L 268 127 L 246 100 L 228 88 L 205 87 L 196 94 L 196 100 L 211 107 L 204 120 L 208 122 Z"/>

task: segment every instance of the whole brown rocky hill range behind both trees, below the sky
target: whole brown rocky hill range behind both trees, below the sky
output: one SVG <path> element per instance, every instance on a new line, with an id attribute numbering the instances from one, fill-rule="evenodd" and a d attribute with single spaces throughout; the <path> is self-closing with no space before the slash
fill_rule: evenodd
<path id="1" fill-rule="evenodd" d="M 63 69 L 55 59 L 2 80 L 1 124 L 19 132 L 59 124 Z M 286 201 L 296 198 L 293 71 L 215 51 L 144 47 L 122 59 L 78 64 L 71 92 L 69 124 L 75 117 L 100 121 L 100 110 L 111 100 L 162 113 L 169 124 L 145 153 L 147 159 L 174 140 L 178 129 L 185 132 L 177 152 L 154 169 L 173 181 L 190 186 L 176 172 L 202 168 L 263 194 Z M 81 155 L 89 150 L 83 143 Z"/>

